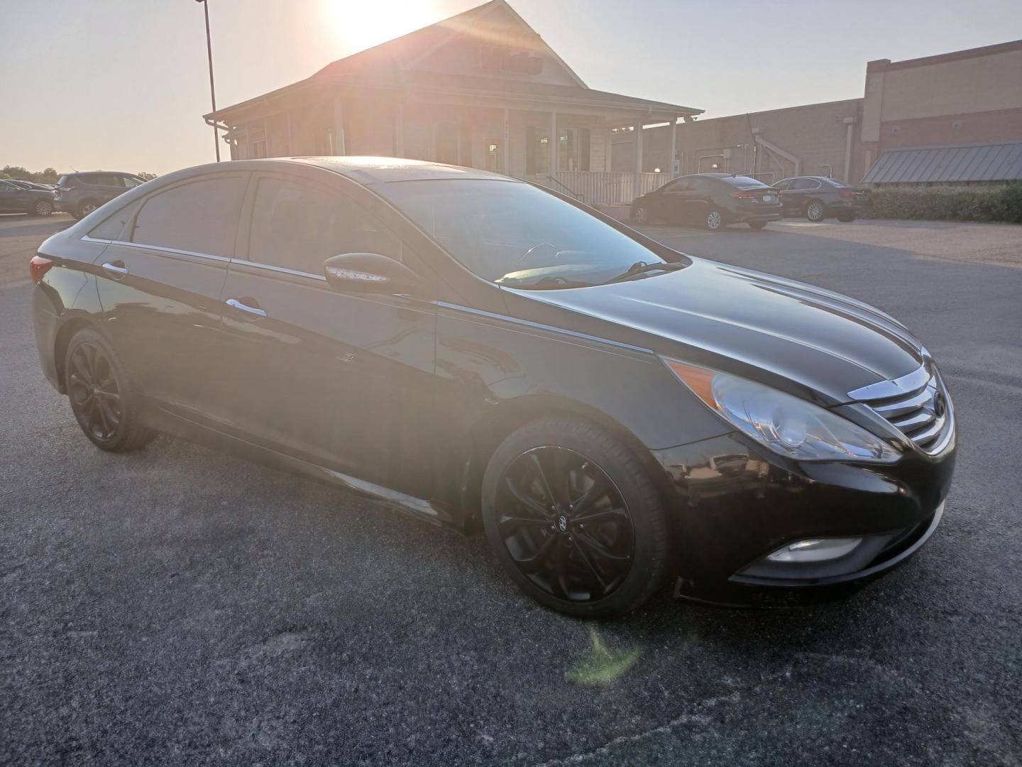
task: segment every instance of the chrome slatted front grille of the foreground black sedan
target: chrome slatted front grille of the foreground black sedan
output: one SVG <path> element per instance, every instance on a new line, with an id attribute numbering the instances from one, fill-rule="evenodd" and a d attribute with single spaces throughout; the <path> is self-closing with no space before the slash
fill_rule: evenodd
<path id="1" fill-rule="evenodd" d="M 930 455 L 943 450 L 955 430 L 950 398 L 929 360 L 908 375 L 856 389 L 848 396 L 869 406 Z"/>

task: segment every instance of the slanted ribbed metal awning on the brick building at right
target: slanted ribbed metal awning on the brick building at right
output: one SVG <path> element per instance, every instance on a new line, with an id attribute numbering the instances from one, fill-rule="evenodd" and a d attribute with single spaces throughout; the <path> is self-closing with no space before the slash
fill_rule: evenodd
<path id="1" fill-rule="evenodd" d="M 1022 180 L 1022 141 L 888 149 L 865 184 Z"/>

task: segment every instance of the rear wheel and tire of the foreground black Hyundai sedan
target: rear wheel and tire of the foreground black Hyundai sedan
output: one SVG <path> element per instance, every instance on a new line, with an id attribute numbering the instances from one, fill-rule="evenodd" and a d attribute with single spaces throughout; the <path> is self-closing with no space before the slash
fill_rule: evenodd
<path id="1" fill-rule="evenodd" d="M 111 453 L 138 450 L 155 437 L 141 419 L 141 405 L 110 343 L 92 329 L 79 330 L 64 355 L 64 387 L 79 426 Z"/>

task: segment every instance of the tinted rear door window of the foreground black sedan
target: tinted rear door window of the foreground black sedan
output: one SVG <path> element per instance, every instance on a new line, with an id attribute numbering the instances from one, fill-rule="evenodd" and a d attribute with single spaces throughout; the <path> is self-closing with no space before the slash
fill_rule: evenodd
<path id="1" fill-rule="evenodd" d="M 230 257 L 244 195 L 241 176 L 193 181 L 146 198 L 132 242 Z"/>

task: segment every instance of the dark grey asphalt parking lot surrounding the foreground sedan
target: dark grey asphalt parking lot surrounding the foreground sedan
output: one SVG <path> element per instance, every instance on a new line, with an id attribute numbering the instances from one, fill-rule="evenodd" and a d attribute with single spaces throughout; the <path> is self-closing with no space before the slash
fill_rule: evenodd
<path id="1" fill-rule="evenodd" d="M 1022 227 L 646 231 L 894 314 L 941 363 L 944 521 L 843 602 L 530 602 L 481 538 L 168 438 L 94 449 L 0 217 L 0 764 L 1022 763 Z"/>

